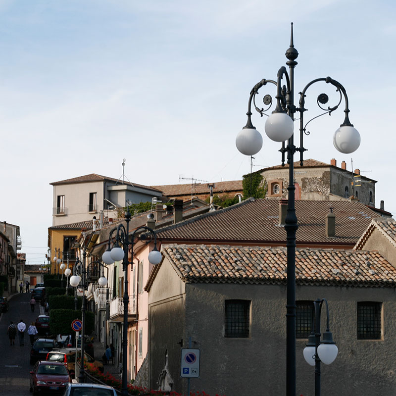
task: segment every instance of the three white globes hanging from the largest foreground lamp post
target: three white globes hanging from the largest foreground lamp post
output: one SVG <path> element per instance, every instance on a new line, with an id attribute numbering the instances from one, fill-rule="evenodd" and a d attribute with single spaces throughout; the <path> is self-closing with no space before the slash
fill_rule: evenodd
<path id="1" fill-rule="evenodd" d="M 274 111 L 266 120 L 264 130 L 266 135 L 274 142 L 284 142 L 294 133 L 294 121 L 285 112 Z M 260 132 L 251 124 L 248 117 L 247 125 L 237 135 L 236 146 L 245 155 L 254 155 L 262 148 L 263 138 Z M 359 132 L 349 123 L 344 122 L 333 136 L 334 147 L 349 154 L 360 146 Z"/>

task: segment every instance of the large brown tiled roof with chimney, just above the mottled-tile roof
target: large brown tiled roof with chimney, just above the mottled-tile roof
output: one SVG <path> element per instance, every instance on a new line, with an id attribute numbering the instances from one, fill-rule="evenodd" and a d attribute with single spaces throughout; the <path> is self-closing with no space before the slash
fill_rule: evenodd
<path id="1" fill-rule="evenodd" d="M 325 219 L 332 206 L 336 236 L 326 237 Z M 348 244 L 357 242 L 378 214 L 360 202 L 296 201 L 297 245 Z M 279 201 L 249 198 L 228 208 L 208 212 L 172 226 L 158 228 L 163 242 L 253 243 L 285 245 L 286 231 L 279 226 Z"/>

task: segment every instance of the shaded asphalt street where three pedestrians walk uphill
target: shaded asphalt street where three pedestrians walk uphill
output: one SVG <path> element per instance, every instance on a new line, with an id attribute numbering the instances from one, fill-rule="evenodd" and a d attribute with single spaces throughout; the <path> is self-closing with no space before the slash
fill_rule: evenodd
<path id="1" fill-rule="evenodd" d="M 9 299 L 8 312 L 0 316 L 0 395 L 23 396 L 29 392 L 30 340 L 27 328 L 40 315 L 40 305 L 36 303 L 35 312 L 31 312 L 30 293 L 13 295 Z M 17 324 L 21 319 L 26 324 L 24 346 L 19 346 L 18 335 L 15 345 L 10 346 L 6 334 L 7 327 L 12 320 Z"/>

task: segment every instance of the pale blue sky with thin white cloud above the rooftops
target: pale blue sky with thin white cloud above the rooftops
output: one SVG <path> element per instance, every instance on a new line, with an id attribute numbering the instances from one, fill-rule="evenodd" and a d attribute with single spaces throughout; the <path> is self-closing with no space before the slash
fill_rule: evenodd
<path id="1" fill-rule="evenodd" d="M 285 64 L 290 22 L 296 91 L 318 77 L 341 82 L 362 138 L 353 155 L 336 151 L 338 110 L 309 124 L 305 157 L 345 160 L 348 169 L 353 158 L 378 181 L 377 206 L 383 199 L 396 213 L 395 8 L 361 0 L 0 0 L 0 221 L 20 226 L 28 262 L 42 263 L 50 182 L 118 178 L 122 158 L 128 179 L 144 185 L 240 179 L 249 158 L 235 137 L 248 95 Z M 326 88 L 309 94 L 306 117 L 318 114 Z M 261 132 L 264 121 L 253 116 Z M 264 137 L 254 170 L 280 163 L 277 150 Z"/>

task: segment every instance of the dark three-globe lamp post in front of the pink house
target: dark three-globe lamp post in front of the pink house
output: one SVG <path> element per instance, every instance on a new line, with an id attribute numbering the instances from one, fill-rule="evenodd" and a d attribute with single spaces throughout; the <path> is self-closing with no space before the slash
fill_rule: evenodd
<path id="1" fill-rule="evenodd" d="M 128 208 L 129 209 L 129 208 Z M 133 248 L 134 248 L 134 241 L 135 237 L 138 233 L 140 233 L 139 238 L 145 244 L 154 241 L 154 248 L 148 253 L 148 261 L 151 264 L 159 264 L 162 260 L 161 253 L 157 250 L 157 239 L 154 230 L 147 226 L 142 226 L 137 228 L 129 239 L 129 222 L 131 220 L 131 213 L 127 209 L 127 213 L 125 215 L 126 220 L 126 227 L 123 224 L 120 224 L 118 227 L 115 227 L 111 230 L 109 242 L 108 242 L 108 249 L 103 253 L 102 260 L 105 264 L 112 264 L 115 261 L 122 260 L 122 269 L 124 271 L 124 318 L 123 318 L 123 340 L 122 340 L 122 395 L 128 395 L 128 388 L 127 388 L 127 347 L 128 347 L 128 303 L 129 303 L 129 296 L 128 296 L 128 276 L 127 276 L 127 269 L 128 264 L 131 264 L 132 269 L 132 262 L 133 262 Z M 110 242 L 111 242 L 111 235 L 114 231 L 117 231 L 115 246 L 110 250 Z M 120 247 L 122 246 L 122 247 Z M 131 247 L 131 262 L 128 260 L 128 251 L 129 247 Z"/>

